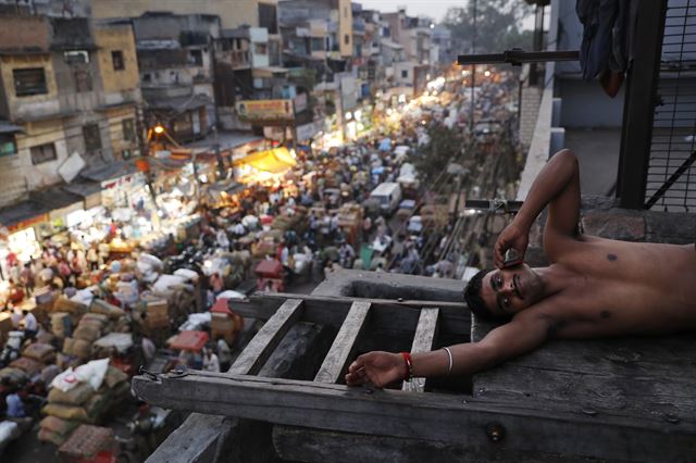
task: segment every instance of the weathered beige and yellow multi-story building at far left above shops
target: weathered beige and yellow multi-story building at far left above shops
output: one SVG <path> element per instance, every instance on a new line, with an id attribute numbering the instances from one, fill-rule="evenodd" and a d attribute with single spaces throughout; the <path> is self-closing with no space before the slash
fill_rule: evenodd
<path id="1" fill-rule="evenodd" d="M 129 27 L 17 11 L 0 16 L 0 224 L 30 241 L 133 167 L 141 96 Z"/>

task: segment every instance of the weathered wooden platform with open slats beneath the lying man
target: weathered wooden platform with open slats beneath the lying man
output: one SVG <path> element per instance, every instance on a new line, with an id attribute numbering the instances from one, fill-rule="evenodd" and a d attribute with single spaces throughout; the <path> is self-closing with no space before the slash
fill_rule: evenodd
<path id="1" fill-rule="evenodd" d="M 343 384 L 357 353 L 380 346 L 430 350 L 444 339 L 468 341 L 470 333 L 477 340 L 490 327 L 474 325 L 471 330 L 462 303 L 437 301 L 265 295 L 236 310 L 268 322 L 228 373 L 138 376 L 136 392 L 164 408 L 311 428 L 304 440 L 288 446 L 294 448 L 308 445 L 308 436 L 314 439 L 310 447 L 318 439 L 335 442 L 339 431 L 351 445 L 396 442 L 398 448 L 399 442 L 422 441 L 432 448 L 439 442 L 448 449 L 443 454 L 451 456 L 443 461 L 457 461 L 456 455 L 623 461 L 696 456 L 695 393 L 688 387 L 696 372 L 693 337 L 551 343 L 476 375 L 473 395 L 432 392 L 424 383 L 380 390 Z M 299 322 L 331 326 L 336 333 L 313 376 L 259 376 Z M 287 445 L 294 428 L 288 429 L 286 440 L 274 437 L 278 446 Z M 295 452 L 296 459 L 312 461 L 310 451 L 306 456 Z M 346 451 L 335 461 L 351 458 Z"/>

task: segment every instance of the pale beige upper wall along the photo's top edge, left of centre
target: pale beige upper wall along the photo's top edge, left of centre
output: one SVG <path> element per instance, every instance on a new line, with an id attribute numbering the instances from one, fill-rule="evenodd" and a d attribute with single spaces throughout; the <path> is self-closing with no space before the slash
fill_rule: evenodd
<path id="1" fill-rule="evenodd" d="M 259 25 L 259 3 L 278 4 L 277 0 L 92 0 L 95 18 L 134 17 L 148 11 L 170 11 L 174 14 L 213 14 L 222 27 Z"/>

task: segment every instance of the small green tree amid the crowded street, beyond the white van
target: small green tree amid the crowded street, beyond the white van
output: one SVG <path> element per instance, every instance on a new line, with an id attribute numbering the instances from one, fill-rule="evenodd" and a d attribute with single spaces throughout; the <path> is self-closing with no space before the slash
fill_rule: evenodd
<path id="1" fill-rule="evenodd" d="M 450 162 L 457 161 L 467 145 L 467 137 L 459 127 L 433 123 L 427 127 L 430 141 L 420 147 L 411 162 L 422 175 L 426 185 L 431 185 L 438 175 L 447 170 Z"/>

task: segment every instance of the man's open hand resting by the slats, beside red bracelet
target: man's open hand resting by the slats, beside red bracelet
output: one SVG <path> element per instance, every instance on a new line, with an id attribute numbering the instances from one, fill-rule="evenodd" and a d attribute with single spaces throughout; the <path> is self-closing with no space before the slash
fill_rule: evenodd
<path id="1" fill-rule="evenodd" d="M 384 387 L 402 379 L 407 370 L 406 360 L 398 353 L 368 352 L 358 356 L 350 364 L 346 375 L 346 384 L 360 386 L 370 381 L 376 387 Z"/>

